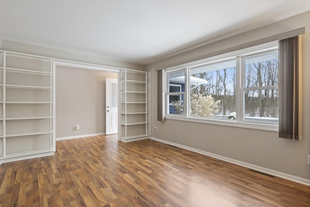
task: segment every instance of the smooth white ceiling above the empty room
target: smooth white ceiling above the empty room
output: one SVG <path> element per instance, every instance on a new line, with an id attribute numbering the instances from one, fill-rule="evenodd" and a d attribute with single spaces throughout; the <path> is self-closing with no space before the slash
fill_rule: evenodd
<path id="1" fill-rule="evenodd" d="M 310 11 L 310 0 L 0 0 L 0 39 L 149 64 Z"/>

